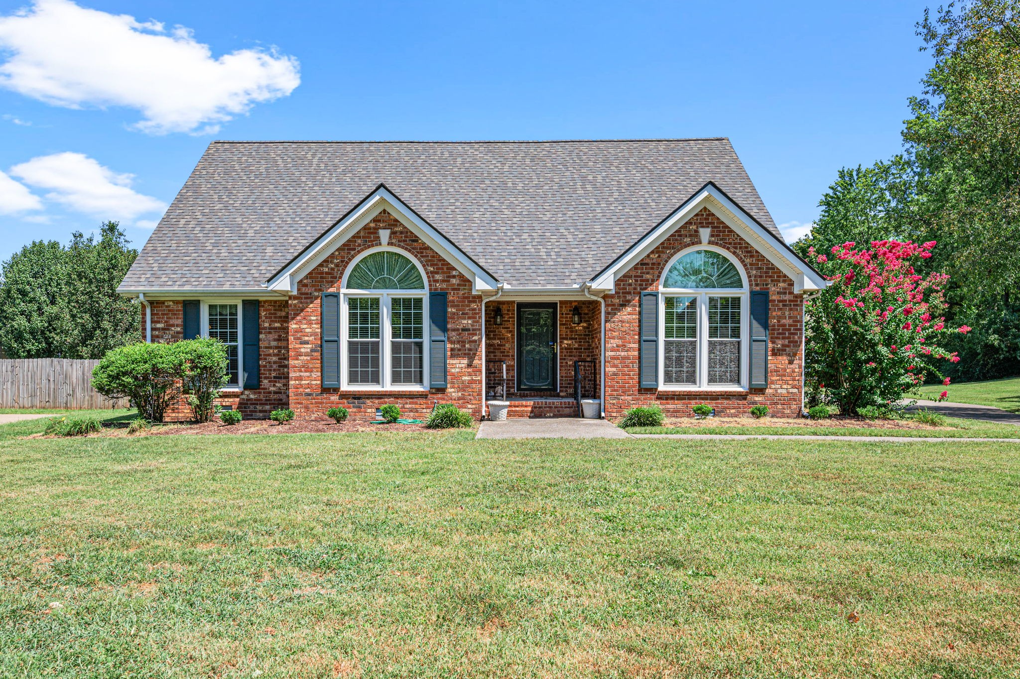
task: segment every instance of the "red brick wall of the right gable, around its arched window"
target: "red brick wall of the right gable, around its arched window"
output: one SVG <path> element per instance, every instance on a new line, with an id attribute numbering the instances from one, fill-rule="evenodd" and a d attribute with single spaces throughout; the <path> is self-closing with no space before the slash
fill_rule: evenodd
<path id="1" fill-rule="evenodd" d="M 733 254 L 744 265 L 752 290 L 769 291 L 768 387 L 747 391 L 668 391 L 639 387 L 639 304 L 643 291 L 659 289 L 659 278 L 677 252 L 698 245 L 699 226 L 711 226 L 711 245 Z M 616 281 L 606 296 L 606 414 L 621 417 L 628 408 L 659 404 L 667 416 L 693 416 L 691 406 L 708 403 L 720 415 L 746 415 L 751 406 L 795 417 L 801 409 L 803 300 L 794 283 L 741 236 L 707 208 L 687 220 Z"/>

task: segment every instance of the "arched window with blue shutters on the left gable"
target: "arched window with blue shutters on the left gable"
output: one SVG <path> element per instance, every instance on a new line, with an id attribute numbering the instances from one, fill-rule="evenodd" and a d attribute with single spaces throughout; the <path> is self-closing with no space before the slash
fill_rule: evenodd
<path id="1" fill-rule="evenodd" d="M 421 266 L 395 248 L 357 257 L 343 279 L 343 384 L 350 387 L 427 388 L 428 342 Z"/>

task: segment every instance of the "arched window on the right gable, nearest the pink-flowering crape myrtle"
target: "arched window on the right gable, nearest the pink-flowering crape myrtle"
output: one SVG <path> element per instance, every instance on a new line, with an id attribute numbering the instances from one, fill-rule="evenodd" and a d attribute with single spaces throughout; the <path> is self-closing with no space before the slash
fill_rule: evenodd
<path id="1" fill-rule="evenodd" d="M 666 388 L 746 388 L 747 281 L 740 262 L 713 246 L 667 263 L 659 289 Z"/>

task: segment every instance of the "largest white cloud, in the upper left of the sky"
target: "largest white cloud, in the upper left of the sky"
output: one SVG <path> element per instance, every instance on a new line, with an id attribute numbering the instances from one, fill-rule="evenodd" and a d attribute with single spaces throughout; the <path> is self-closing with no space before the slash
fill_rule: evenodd
<path id="1" fill-rule="evenodd" d="M 254 104 L 285 97 L 301 82 L 298 61 L 245 49 L 213 58 L 189 29 L 38 0 L 0 17 L 0 86 L 57 106 L 126 106 L 152 134 L 214 133 Z"/>

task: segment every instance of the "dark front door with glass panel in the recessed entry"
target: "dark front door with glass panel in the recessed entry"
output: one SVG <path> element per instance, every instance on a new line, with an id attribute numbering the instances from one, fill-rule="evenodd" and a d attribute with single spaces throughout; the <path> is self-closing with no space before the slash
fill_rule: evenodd
<path id="1" fill-rule="evenodd" d="M 555 391 L 557 305 L 517 304 L 517 390 Z"/>

